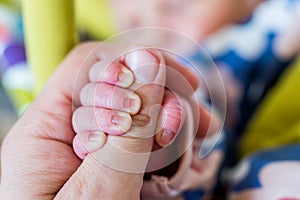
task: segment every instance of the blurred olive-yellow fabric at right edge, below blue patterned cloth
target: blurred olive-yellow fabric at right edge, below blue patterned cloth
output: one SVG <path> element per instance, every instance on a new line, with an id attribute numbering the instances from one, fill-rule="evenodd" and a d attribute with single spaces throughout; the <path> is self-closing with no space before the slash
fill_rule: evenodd
<path id="1" fill-rule="evenodd" d="M 268 93 L 240 141 L 242 156 L 300 142 L 300 58 Z"/>

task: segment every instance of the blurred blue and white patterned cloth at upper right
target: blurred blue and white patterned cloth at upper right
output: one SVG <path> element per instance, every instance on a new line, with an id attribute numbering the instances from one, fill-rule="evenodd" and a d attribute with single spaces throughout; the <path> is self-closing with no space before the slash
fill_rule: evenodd
<path id="1" fill-rule="evenodd" d="M 295 17 L 295 8 L 299 2 L 266 1 L 247 21 L 229 27 L 225 39 L 222 38 L 224 34 L 221 34 L 216 41 L 204 42 L 204 48 L 216 65 L 232 71 L 242 86 L 243 96 L 239 104 L 241 116 L 234 128 L 238 136 L 265 94 L 295 58 L 280 59 L 274 52 L 274 43 L 290 28 L 287 24 Z M 220 43 L 220 40 L 224 44 L 218 50 L 212 50 L 211 44 Z M 207 64 L 202 51 L 195 52 L 190 58 L 199 66 Z"/>

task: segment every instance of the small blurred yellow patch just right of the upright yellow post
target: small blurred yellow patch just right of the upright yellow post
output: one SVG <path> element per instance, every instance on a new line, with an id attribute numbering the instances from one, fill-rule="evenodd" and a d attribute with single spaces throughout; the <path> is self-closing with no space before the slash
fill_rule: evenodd
<path id="1" fill-rule="evenodd" d="M 75 0 L 77 26 L 103 40 L 116 33 L 108 0 Z"/>

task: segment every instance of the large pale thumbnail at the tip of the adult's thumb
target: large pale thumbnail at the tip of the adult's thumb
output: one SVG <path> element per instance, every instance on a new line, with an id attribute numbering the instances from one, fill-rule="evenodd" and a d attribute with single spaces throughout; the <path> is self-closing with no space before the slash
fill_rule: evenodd
<path id="1" fill-rule="evenodd" d="M 125 62 L 134 72 L 137 83 L 150 83 L 155 80 L 159 67 L 155 55 L 146 50 L 136 50 L 126 55 Z"/>

